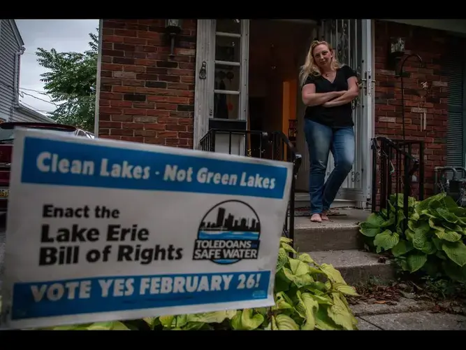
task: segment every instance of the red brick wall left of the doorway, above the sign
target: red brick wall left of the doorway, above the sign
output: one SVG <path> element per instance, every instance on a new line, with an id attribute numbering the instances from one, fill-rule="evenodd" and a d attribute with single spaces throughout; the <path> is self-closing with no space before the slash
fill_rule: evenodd
<path id="1" fill-rule="evenodd" d="M 192 148 L 196 20 L 103 20 L 99 137 Z"/>

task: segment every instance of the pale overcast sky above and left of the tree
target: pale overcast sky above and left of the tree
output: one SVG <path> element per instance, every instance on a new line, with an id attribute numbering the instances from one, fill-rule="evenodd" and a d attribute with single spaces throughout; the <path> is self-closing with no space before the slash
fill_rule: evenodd
<path id="1" fill-rule="evenodd" d="M 89 33 L 96 32 L 99 20 L 15 20 L 22 40 L 24 55 L 21 56 L 20 101 L 35 111 L 45 114 L 55 109 L 50 97 L 43 94 L 41 73 L 43 69 L 36 60 L 37 48 L 58 52 L 84 52 L 89 49 Z M 42 93 L 41 93 L 42 92 Z M 29 95 L 33 95 L 31 97 Z"/>

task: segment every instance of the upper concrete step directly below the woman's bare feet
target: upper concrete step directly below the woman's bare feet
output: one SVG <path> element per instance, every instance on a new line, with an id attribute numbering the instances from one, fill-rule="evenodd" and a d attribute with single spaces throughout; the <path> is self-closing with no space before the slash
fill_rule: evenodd
<path id="1" fill-rule="evenodd" d="M 342 216 L 312 223 L 308 216 L 295 218 L 294 246 L 298 251 L 328 251 L 363 248 L 358 223 L 365 221 L 369 210 L 339 209 Z"/>

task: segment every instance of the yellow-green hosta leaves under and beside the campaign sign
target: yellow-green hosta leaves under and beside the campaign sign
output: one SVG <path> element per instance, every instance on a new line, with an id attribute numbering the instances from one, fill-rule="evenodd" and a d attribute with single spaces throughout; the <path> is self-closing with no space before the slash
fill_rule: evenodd
<path id="1" fill-rule="evenodd" d="M 358 296 L 332 265 L 298 254 L 280 240 L 275 305 L 258 309 L 159 316 L 49 328 L 53 330 L 357 330 L 345 295 Z M 293 258 L 290 258 L 292 253 Z"/>

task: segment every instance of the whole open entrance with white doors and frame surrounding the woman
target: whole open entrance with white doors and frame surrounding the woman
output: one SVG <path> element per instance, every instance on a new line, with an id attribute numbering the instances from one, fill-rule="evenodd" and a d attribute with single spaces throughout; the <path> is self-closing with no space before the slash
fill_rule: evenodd
<path id="1" fill-rule="evenodd" d="M 354 105 L 356 162 L 337 198 L 364 207 L 370 194 L 373 134 L 371 20 L 198 20 L 197 30 L 194 142 L 212 125 L 286 135 L 296 126 L 296 148 L 303 156 L 296 188 L 304 192 L 309 157 L 301 131 L 305 106 L 298 73 L 311 41 L 330 42 L 340 62 L 358 71 L 362 86 Z M 244 147 L 245 140 L 238 139 L 238 149 Z M 332 169 L 330 156 L 328 174 Z"/>

